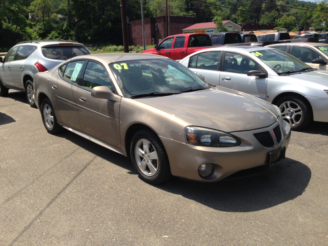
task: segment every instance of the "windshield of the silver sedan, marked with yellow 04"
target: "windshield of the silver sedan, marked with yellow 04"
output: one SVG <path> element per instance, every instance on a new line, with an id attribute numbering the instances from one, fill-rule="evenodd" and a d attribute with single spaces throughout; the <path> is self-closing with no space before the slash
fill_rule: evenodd
<path id="1" fill-rule="evenodd" d="M 296 57 L 281 50 L 259 50 L 251 52 L 272 68 L 278 75 L 311 69 Z"/>

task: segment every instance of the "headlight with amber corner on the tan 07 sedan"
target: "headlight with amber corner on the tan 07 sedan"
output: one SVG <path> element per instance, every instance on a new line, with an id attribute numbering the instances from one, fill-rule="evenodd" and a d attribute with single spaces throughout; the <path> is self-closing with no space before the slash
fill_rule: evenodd
<path id="1" fill-rule="evenodd" d="M 240 145 L 233 135 L 203 127 L 185 128 L 187 144 L 208 147 L 231 147 Z"/>

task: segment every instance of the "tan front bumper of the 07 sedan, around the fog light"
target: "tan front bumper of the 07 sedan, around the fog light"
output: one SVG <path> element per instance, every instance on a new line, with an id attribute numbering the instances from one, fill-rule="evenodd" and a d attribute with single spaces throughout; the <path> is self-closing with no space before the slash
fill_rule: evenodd
<path id="1" fill-rule="evenodd" d="M 280 125 L 276 121 L 273 125 L 251 131 L 231 132 L 237 136 L 242 144 L 237 147 L 203 147 L 187 145 L 166 137 L 160 137 L 169 157 L 171 173 L 174 176 L 203 181 L 215 182 L 241 170 L 265 165 L 269 162 L 269 153 L 283 147 L 288 147 L 291 132 L 285 134 L 282 129 L 282 140 L 271 148 L 265 148 L 253 135 L 254 133 L 272 131 Z M 198 174 L 198 167 L 203 163 L 213 163 L 214 174 L 207 179 Z"/>

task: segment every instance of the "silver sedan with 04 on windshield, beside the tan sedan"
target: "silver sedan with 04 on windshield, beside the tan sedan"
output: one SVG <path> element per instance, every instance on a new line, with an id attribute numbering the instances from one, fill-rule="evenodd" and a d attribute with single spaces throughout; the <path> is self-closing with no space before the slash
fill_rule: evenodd
<path id="1" fill-rule="evenodd" d="M 218 47 L 195 52 L 179 63 L 209 84 L 277 105 L 292 130 L 305 127 L 312 119 L 328 122 L 328 72 L 313 69 L 281 50 Z"/>

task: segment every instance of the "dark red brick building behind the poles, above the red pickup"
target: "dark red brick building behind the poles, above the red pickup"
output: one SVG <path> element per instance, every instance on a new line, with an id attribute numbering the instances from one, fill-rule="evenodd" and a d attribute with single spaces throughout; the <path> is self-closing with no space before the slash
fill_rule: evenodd
<path id="1" fill-rule="evenodd" d="M 165 15 L 149 17 L 144 19 L 146 45 L 158 44 L 166 35 Z M 195 23 L 195 17 L 189 16 L 170 16 L 169 33 L 170 35 L 182 33 L 182 29 Z M 142 46 L 142 20 L 133 20 L 129 23 L 129 45 Z"/>

